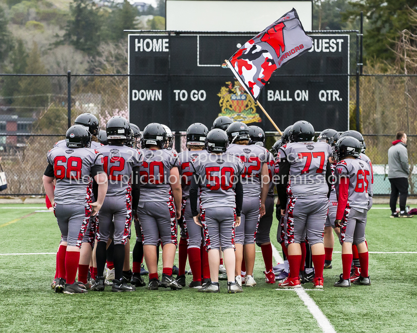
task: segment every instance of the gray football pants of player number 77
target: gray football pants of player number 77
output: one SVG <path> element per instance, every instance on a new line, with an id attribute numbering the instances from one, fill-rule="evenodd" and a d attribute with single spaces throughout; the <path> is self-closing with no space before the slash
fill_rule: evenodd
<path id="1" fill-rule="evenodd" d="M 290 196 L 285 218 L 286 245 L 304 242 L 306 237 L 310 245 L 323 243 L 328 209 L 327 196 Z"/>

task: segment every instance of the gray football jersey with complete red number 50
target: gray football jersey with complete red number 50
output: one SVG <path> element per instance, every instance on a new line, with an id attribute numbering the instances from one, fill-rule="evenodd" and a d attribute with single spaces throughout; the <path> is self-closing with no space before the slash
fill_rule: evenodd
<path id="1" fill-rule="evenodd" d="M 235 207 L 236 178 L 244 172 L 243 162 L 229 154 L 200 154 L 191 162 L 194 176 L 200 185 L 203 209 Z"/>

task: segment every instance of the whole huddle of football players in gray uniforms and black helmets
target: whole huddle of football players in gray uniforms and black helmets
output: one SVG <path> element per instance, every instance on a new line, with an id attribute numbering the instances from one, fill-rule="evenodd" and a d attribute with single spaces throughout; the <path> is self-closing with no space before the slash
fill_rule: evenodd
<path id="1" fill-rule="evenodd" d="M 52 288 L 65 294 L 101 292 L 107 285 L 112 292 L 178 290 L 188 274 L 188 287 L 198 292 L 219 293 L 219 280 L 226 280 L 228 293 L 242 293 L 242 285 L 257 284 L 256 245 L 266 283 L 323 288 L 333 230 L 343 263 L 334 286 L 370 285 L 365 225 L 373 172 L 363 136 L 331 129 L 317 142 L 314 136 L 309 122 L 297 121 L 268 151 L 262 129 L 222 116 L 210 131 L 202 123 L 189 126 L 187 150 L 177 153 L 163 124 L 141 132 L 116 116 L 100 131 L 95 116 L 78 116 L 66 139 L 48 152 L 43 177 L 62 235 Z M 275 188 L 285 262 L 274 267 Z"/>

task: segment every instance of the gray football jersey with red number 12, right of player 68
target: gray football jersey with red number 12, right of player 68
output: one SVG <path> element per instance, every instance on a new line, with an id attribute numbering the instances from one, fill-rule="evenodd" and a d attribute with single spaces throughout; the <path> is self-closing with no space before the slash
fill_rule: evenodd
<path id="1" fill-rule="evenodd" d="M 142 164 L 141 154 L 125 145 L 103 145 L 97 151 L 103 154 L 103 168 L 108 178 L 107 196 L 131 192 L 132 169 Z"/>

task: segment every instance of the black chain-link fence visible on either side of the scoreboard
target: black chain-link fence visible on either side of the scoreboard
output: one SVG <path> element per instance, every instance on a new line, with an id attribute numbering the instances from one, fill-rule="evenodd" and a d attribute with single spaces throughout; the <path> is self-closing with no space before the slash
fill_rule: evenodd
<path id="1" fill-rule="evenodd" d="M 359 97 L 359 130 L 374 165 L 375 194 L 390 193 L 387 152 L 395 133 L 405 131 L 412 170 L 410 194 L 417 195 L 417 76 L 361 75 Z M 351 76 L 351 129 L 356 129 L 356 100 L 356 80 Z M 42 195 L 46 153 L 64 138 L 68 123 L 84 112 L 95 114 L 101 126 L 113 115 L 128 117 L 128 76 L 72 75 L 69 81 L 66 74 L 0 74 L 0 156 L 8 181 L 0 194 Z M 277 133 L 267 133 L 267 148 L 278 138 Z M 175 141 L 178 151 L 186 149 L 184 132 L 176 133 Z"/>

